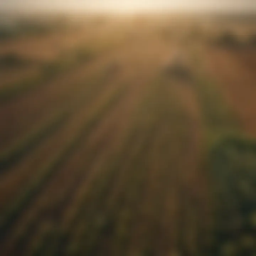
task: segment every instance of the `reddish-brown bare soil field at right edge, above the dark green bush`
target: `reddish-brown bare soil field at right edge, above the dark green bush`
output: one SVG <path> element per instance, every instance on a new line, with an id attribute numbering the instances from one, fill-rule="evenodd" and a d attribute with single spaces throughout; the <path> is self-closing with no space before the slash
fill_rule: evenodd
<path id="1" fill-rule="evenodd" d="M 218 89 L 223 92 L 225 101 L 239 121 L 239 126 L 255 137 L 256 76 L 254 69 L 248 68 L 252 65 L 253 56 L 249 58 L 246 53 L 225 49 L 209 49 L 206 55 L 208 70 L 221 85 Z"/>

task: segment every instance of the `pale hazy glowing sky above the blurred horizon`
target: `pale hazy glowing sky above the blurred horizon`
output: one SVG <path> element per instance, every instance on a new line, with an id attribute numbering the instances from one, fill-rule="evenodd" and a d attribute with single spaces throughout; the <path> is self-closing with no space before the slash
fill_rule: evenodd
<path id="1" fill-rule="evenodd" d="M 256 0 L 0 0 L 0 10 L 255 10 Z"/>

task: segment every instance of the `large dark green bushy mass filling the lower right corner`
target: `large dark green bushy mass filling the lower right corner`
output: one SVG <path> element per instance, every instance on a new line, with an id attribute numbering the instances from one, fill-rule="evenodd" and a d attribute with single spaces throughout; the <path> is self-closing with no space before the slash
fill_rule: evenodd
<path id="1" fill-rule="evenodd" d="M 256 143 L 221 139 L 210 151 L 209 169 L 216 207 L 214 255 L 254 255 L 256 241 L 247 248 L 243 239 L 256 236 Z"/>

